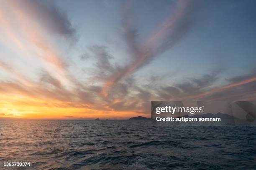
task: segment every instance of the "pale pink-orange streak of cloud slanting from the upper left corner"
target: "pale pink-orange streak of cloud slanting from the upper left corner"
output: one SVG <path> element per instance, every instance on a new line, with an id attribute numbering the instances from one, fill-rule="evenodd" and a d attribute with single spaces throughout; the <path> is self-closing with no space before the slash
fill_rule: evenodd
<path id="1" fill-rule="evenodd" d="M 28 2 L 31 3 L 33 1 Z M 27 0 L 25 0 L 24 3 L 26 5 Z M 53 45 L 51 45 L 51 42 L 46 39 L 46 35 L 44 35 L 44 33 L 47 33 L 46 29 L 44 28 L 44 25 L 40 23 L 43 21 L 41 21 L 40 18 L 33 18 L 33 16 L 36 15 L 35 13 L 37 12 L 37 9 L 28 10 L 21 2 L 14 0 L 6 1 L 5 6 L 8 7 L 8 10 L 12 11 L 12 15 L 8 14 L 6 9 L 2 10 L 4 7 L 2 6 L 0 10 L 0 23 L 2 24 L 3 29 L 7 33 L 9 39 L 15 42 L 15 45 L 19 47 L 25 56 L 29 56 L 27 52 L 28 47 L 26 47 L 23 41 L 20 40 L 23 38 L 23 36 L 25 36 L 26 40 L 40 49 L 40 52 L 34 51 L 36 53 L 35 56 L 41 59 L 43 62 L 46 62 L 46 64 L 49 63 L 54 65 L 54 72 L 57 72 L 66 80 L 64 62 L 61 60 L 61 57 L 57 54 L 56 50 L 54 50 L 52 47 Z M 35 6 L 31 5 L 31 7 Z M 5 16 L 5 18 L 9 18 L 9 20 L 6 20 L 3 16 Z M 15 24 L 11 23 L 13 20 L 15 20 Z M 22 36 L 14 34 L 17 27 L 19 27 L 18 30 L 22 32 Z M 47 65 L 45 66 L 47 68 Z"/>

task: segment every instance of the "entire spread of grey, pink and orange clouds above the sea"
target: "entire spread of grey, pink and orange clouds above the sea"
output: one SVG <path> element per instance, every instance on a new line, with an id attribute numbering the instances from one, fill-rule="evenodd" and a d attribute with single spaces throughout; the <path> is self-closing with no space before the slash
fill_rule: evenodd
<path id="1" fill-rule="evenodd" d="M 199 7 L 195 1 L 177 1 L 177 8 L 173 9 L 172 15 L 169 15 L 144 41 L 139 40 L 140 28 L 134 24 L 136 17 L 133 17 L 129 7 L 126 7 L 121 27 L 129 58 L 122 64 L 114 63 L 113 59 L 118 56 L 113 56 L 107 46 L 92 45 L 80 56 L 81 60 L 90 58 L 95 61 L 91 70 L 92 81 L 88 82 L 68 74 L 67 63 L 51 40 L 64 37 L 72 42 L 76 39 L 76 30 L 68 20 L 67 14 L 44 1 L 10 0 L 4 3 L 4 7 L 7 8 L 0 7 L 0 22 L 5 28 L 3 30 L 8 33 L 7 36 L 24 53 L 30 52 L 29 48 L 23 45 L 23 40 L 26 39 L 35 47 L 35 56 L 39 57 L 43 64 L 46 62 L 56 67 L 56 70 L 51 72 L 47 69 L 48 65 L 43 65 L 44 69 L 33 77 L 33 80 L 29 80 L 12 65 L 0 61 L 0 67 L 15 77 L 15 80 L 0 81 L 0 95 L 8 96 L 15 106 L 51 107 L 50 111 L 52 107 L 65 110 L 81 108 L 81 114 L 85 113 L 85 110 L 88 111 L 87 114 L 147 114 L 150 113 L 150 100 L 233 100 L 241 97 L 252 98 L 256 94 L 253 93 L 256 89 L 256 69 L 248 74 L 227 79 L 225 85 L 218 86 L 216 82 L 219 80 L 221 69 L 171 85 L 160 80 L 162 75 L 150 77 L 145 82 L 133 75 L 154 58 L 172 49 L 190 32 L 196 22 Z M 16 35 L 13 30 L 18 30 L 22 37 Z M 61 76 L 67 76 L 69 83 L 61 81 Z M 76 115 L 64 117 L 77 118 Z"/>

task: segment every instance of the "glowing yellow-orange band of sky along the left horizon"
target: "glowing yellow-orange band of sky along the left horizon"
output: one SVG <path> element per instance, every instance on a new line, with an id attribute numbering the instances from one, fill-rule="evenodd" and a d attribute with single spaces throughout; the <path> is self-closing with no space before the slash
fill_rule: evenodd
<path id="1" fill-rule="evenodd" d="M 0 94 L 0 118 L 16 117 L 28 119 L 126 119 L 136 112 L 118 112 L 74 107 L 71 102 L 39 100 L 26 96 Z"/>

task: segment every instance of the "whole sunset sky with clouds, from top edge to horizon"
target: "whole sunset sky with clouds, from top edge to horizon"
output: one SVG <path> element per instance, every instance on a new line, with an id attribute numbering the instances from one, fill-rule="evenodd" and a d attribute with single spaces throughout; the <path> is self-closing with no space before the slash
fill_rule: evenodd
<path id="1" fill-rule="evenodd" d="M 256 100 L 254 0 L 0 0 L 0 118 Z"/>

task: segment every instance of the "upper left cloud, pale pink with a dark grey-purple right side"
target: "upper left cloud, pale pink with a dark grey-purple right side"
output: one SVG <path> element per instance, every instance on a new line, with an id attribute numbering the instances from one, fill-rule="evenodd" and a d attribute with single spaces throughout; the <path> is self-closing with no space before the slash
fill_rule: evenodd
<path id="1" fill-rule="evenodd" d="M 68 65 L 54 47 L 52 40 L 64 37 L 69 40 L 65 42 L 74 42 L 76 39 L 75 30 L 67 15 L 52 3 L 38 0 L 5 1 L 0 8 L 0 23 L 10 40 L 20 47 L 23 52 L 21 56 L 33 53 L 33 56 L 42 62 L 54 65 L 54 71 L 65 78 Z M 29 45 L 24 45 L 24 39 L 35 48 L 28 49 Z"/>

